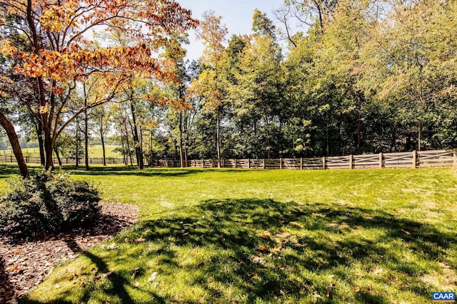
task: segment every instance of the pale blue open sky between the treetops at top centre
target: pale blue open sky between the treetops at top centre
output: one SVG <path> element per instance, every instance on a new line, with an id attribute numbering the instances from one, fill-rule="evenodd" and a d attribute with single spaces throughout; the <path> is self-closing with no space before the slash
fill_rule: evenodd
<path id="1" fill-rule="evenodd" d="M 272 11 L 284 3 L 283 0 L 178 0 L 178 2 L 184 8 L 191 9 L 192 16 L 196 19 L 201 19 L 201 14 L 208 10 L 213 10 L 216 15 L 222 16 L 222 22 L 229 28 L 227 38 L 232 34 L 251 33 L 254 9 L 274 19 Z M 194 33 L 190 33 L 189 40 L 191 44 L 185 46 L 188 51 L 187 58 L 198 59 L 204 46 L 200 41 L 196 41 Z"/>

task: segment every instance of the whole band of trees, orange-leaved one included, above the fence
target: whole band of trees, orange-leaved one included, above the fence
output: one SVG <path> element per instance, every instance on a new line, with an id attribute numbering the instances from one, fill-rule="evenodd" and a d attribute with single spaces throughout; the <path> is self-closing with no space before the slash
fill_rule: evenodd
<path id="1" fill-rule="evenodd" d="M 1 1 L 13 149 L 14 126 L 46 167 L 53 151 L 87 155 L 95 136 L 140 168 L 456 147 L 456 1 L 286 0 L 231 37 L 213 11 L 196 21 L 174 1 L 124 2 Z M 205 50 L 189 62 L 191 28 Z"/>

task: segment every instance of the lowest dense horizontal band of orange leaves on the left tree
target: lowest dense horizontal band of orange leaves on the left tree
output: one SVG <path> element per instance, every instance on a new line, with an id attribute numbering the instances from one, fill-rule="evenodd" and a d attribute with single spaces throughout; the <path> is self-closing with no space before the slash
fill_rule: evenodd
<path id="1" fill-rule="evenodd" d="M 165 82 L 178 81 L 173 63 L 151 57 L 144 44 L 134 47 L 113 46 L 86 50 L 74 47 L 62 52 L 40 50 L 30 54 L 9 48 L 9 54 L 21 60 L 14 68 L 17 73 L 31 78 L 51 78 L 56 81 L 85 80 L 89 75 L 106 77 L 154 78 Z"/>

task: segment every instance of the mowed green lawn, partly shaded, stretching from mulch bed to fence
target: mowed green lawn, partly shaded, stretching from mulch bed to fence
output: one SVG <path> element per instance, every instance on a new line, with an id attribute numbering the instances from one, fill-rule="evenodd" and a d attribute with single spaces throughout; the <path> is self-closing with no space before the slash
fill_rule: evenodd
<path id="1" fill-rule="evenodd" d="M 456 291 L 456 169 L 72 174 L 141 220 L 24 303 L 431 303 Z"/>

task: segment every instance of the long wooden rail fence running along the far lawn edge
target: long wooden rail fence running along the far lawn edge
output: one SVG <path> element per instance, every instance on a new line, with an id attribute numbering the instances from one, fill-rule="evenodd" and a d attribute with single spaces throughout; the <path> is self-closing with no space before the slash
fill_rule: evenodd
<path id="1" fill-rule="evenodd" d="M 27 163 L 40 164 L 39 157 L 25 157 Z M 56 160 L 56 159 L 54 159 Z M 146 164 L 147 164 L 147 160 Z M 1 162 L 16 162 L 13 155 L 0 155 Z M 63 165 L 76 164 L 76 159 L 61 159 Z M 80 159 L 84 164 L 84 159 Z M 89 164 L 102 164 L 102 158 L 89 158 Z M 106 164 L 125 164 L 123 158 L 106 158 Z M 179 160 L 157 159 L 151 167 L 181 167 Z M 217 159 L 193 159 L 186 167 L 216 168 Z M 221 159 L 221 167 L 233 169 L 382 169 L 418 167 L 457 167 L 456 150 L 412 151 L 313 158 Z"/>

